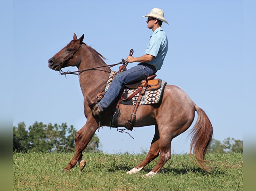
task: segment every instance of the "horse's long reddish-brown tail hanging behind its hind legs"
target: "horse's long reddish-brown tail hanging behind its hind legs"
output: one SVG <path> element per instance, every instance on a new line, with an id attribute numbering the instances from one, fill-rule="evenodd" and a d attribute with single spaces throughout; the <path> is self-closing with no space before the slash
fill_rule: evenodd
<path id="1" fill-rule="evenodd" d="M 195 110 L 198 113 L 197 122 L 191 129 L 189 136 L 190 140 L 190 158 L 192 159 L 191 152 L 196 158 L 197 165 L 207 172 L 210 172 L 210 168 L 205 165 L 205 154 L 208 147 L 211 144 L 213 136 L 213 126 L 208 116 L 203 109 L 195 105 Z"/>

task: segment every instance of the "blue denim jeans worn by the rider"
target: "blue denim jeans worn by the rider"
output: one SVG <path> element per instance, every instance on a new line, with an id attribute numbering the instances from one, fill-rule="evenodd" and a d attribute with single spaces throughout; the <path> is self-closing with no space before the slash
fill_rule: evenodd
<path id="1" fill-rule="evenodd" d="M 151 76 L 155 74 L 152 68 L 148 64 L 140 63 L 124 72 L 118 73 L 111 82 L 109 89 L 105 93 L 104 97 L 99 102 L 99 107 L 104 111 L 109 105 L 111 105 L 120 94 L 122 86 L 131 84 L 136 81 L 144 80 L 145 75 Z"/>

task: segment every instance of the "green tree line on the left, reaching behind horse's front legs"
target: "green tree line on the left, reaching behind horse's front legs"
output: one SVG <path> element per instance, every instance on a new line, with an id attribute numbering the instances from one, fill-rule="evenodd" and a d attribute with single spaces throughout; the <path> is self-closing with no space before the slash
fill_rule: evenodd
<path id="1" fill-rule="evenodd" d="M 75 135 L 77 131 L 73 125 L 35 122 L 28 127 L 24 122 L 13 126 L 13 151 L 75 151 Z M 102 152 L 100 139 L 94 134 L 85 152 Z"/>

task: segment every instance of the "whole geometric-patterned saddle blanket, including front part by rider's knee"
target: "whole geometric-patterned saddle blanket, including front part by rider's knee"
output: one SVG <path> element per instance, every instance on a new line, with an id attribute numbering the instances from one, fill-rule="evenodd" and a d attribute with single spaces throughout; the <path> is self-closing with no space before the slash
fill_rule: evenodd
<path id="1" fill-rule="evenodd" d="M 111 78 L 113 76 L 113 74 L 115 74 L 116 72 L 112 71 L 110 74 L 110 78 L 108 80 L 108 82 L 106 83 L 106 87 L 105 87 L 105 91 L 108 90 L 113 78 Z M 160 79 L 154 79 L 153 81 L 157 81 L 159 84 L 159 88 L 155 89 L 155 88 L 149 88 L 149 90 L 146 90 L 145 94 L 142 96 L 141 101 L 140 101 L 140 105 L 147 105 L 147 104 L 154 104 L 154 103 L 159 103 L 160 100 L 162 99 L 162 94 L 163 94 L 163 90 L 164 87 L 166 85 L 166 82 Z M 150 81 L 149 81 L 150 82 Z M 149 87 L 151 86 L 150 83 L 148 84 Z M 153 86 L 153 85 L 152 85 Z M 123 98 L 127 98 L 130 95 L 134 94 L 138 89 L 125 89 L 124 90 L 124 95 Z M 135 96 L 133 96 L 130 100 L 121 100 L 121 104 L 125 104 L 125 105 L 135 105 L 136 101 L 138 99 L 140 93 L 136 94 Z"/>

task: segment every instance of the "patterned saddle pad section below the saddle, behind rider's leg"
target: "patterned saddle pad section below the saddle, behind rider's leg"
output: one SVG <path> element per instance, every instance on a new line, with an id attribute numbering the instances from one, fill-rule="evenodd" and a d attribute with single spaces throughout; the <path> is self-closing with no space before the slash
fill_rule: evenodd
<path id="1" fill-rule="evenodd" d="M 166 85 L 166 82 L 162 80 L 161 87 L 158 90 L 146 90 L 145 94 L 141 98 L 140 105 L 158 103 L 162 98 L 165 85 Z M 132 95 L 136 90 L 137 89 L 134 89 L 134 90 L 125 89 L 126 93 L 124 95 L 124 98 Z M 130 100 L 127 100 L 127 101 L 121 100 L 120 103 L 125 105 L 135 105 L 138 99 L 138 96 L 139 96 L 139 93 L 136 94 Z"/>

